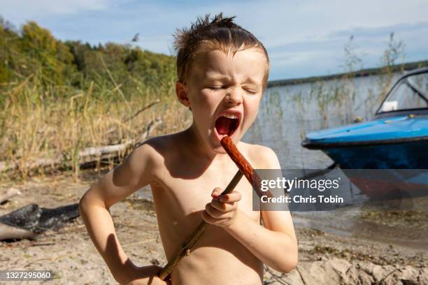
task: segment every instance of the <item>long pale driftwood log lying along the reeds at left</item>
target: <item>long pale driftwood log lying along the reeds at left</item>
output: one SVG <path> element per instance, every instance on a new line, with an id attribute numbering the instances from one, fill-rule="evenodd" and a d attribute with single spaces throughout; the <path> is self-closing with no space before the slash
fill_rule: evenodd
<path id="1" fill-rule="evenodd" d="M 118 145 L 106 145 L 103 147 L 87 147 L 78 153 L 79 165 L 83 166 L 87 163 L 96 163 L 104 159 L 113 159 L 128 149 L 131 149 L 134 145 L 138 144 L 142 140 L 146 140 L 150 133 L 156 129 L 159 124 L 162 124 L 162 120 L 157 118 L 151 121 L 145 130 L 141 133 L 141 136 L 137 140 L 127 140 Z M 40 168 L 59 168 L 59 167 L 71 167 L 72 161 L 64 161 L 62 154 L 51 158 L 51 159 L 36 159 L 35 161 L 29 162 L 12 162 L 0 161 L 0 172 L 6 172 L 8 170 L 25 169 L 25 170 L 36 170 Z"/>

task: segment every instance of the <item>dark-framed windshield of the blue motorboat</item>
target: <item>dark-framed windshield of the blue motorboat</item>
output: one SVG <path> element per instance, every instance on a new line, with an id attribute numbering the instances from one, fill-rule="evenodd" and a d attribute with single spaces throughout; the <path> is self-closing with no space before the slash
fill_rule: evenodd
<path id="1" fill-rule="evenodd" d="M 428 73 L 402 78 L 383 101 L 378 112 L 428 108 Z"/>

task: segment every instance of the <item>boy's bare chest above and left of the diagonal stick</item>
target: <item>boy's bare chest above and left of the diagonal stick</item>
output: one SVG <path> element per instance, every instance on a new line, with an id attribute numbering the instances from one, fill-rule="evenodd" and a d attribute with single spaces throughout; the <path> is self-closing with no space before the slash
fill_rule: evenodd
<path id="1" fill-rule="evenodd" d="M 207 172 L 198 177 L 174 177 L 170 172 L 164 172 L 151 183 L 159 232 L 167 256 L 171 256 L 202 221 L 201 212 L 207 203 L 211 203 L 211 193 L 215 187 L 227 187 L 236 171 L 237 168 L 223 170 L 222 173 Z M 242 196 L 238 210 L 259 222 L 259 212 L 252 211 L 252 187 L 245 177 L 234 191 Z M 220 230 L 216 229 L 217 238 L 210 239 L 211 235 L 206 235 L 201 242 L 215 246 L 226 239 L 227 244 L 234 244 L 233 238 Z"/>

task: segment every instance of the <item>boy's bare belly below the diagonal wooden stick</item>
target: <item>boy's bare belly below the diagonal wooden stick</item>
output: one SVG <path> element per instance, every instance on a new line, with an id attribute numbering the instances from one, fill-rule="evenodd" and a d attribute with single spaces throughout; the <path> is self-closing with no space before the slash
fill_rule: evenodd
<path id="1" fill-rule="evenodd" d="M 208 226 L 171 275 L 177 284 L 262 284 L 263 263 L 222 228 Z"/>

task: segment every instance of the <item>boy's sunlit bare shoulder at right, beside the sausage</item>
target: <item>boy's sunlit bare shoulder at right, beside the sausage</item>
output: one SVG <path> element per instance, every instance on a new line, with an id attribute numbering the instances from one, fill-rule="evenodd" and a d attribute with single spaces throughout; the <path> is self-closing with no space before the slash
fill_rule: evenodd
<path id="1" fill-rule="evenodd" d="M 276 156 L 276 153 L 270 147 L 239 142 L 238 148 L 245 158 L 248 159 L 253 168 L 280 169 L 278 156 Z"/>

